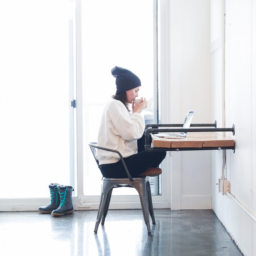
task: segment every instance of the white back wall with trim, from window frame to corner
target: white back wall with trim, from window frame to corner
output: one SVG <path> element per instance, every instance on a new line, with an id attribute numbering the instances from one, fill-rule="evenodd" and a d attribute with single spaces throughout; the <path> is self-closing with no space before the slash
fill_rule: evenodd
<path id="1" fill-rule="evenodd" d="M 171 123 L 211 118 L 210 1 L 170 0 Z M 172 152 L 171 209 L 211 209 L 211 152 Z"/>

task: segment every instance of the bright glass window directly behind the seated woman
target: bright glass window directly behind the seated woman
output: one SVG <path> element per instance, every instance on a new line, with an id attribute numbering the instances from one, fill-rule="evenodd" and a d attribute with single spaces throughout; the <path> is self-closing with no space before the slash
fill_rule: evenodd
<path id="1" fill-rule="evenodd" d="M 100 195 L 101 173 L 88 143 L 97 141 L 103 106 L 115 94 L 112 67 L 134 72 L 141 79 L 139 97 L 148 100 L 146 123 L 158 120 L 156 83 L 156 5 L 149 0 L 99 0 L 82 2 L 83 47 L 83 152 L 84 194 Z M 154 16 L 155 15 L 155 16 Z M 155 40 L 155 41 L 154 41 Z M 154 73 L 155 72 L 155 73 Z M 92 182 L 93 181 L 93 182 Z M 97 183 L 98 182 L 98 183 Z M 161 193 L 158 178 L 150 178 L 155 194 Z M 124 192 L 122 192 L 124 191 Z M 125 189 L 113 193 L 130 194 Z M 137 194 L 137 192 L 134 192 Z"/>

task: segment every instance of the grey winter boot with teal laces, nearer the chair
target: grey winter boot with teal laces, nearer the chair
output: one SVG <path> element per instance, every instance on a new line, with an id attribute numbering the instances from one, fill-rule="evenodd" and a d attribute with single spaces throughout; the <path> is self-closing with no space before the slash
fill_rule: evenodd
<path id="1" fill-rule="evenodd" d="M 61 203 L 58 209 L 52 211 L 52 215 L 62 216 L 66 213 L 74 212 L 72 204 L 72 191 L 74 191 L 72 186 L 58 185 L 58 192 L 60 194 Z"/>

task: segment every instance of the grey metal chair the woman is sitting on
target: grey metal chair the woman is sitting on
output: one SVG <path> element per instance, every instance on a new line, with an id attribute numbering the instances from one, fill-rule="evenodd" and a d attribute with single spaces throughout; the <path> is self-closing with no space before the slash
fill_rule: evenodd
<path id="1" fill-rule="evenodd" d="M 99 210 L 97 215 L 97 221 L 94 228 L 94 233 L 97 233 L 100 222 L 101 222 L 101 225 L 104 225 L 105 218 L 108 213 L 108 207 L 110 204 L 112 190 L 114 188 L 126 186 L 126 187 L 133 187 L 138 191 L 144 220 L 148 229 L 148 234 L 150 234 L 151 229 L 150 229 L 150 223 L 149 223 L 149 214 L 151 216 L 153 224 L 155 224 L 155 216 L 153 211 L 150 184 L 149 184 L 149 181 L 146 180 L 146 176 L 132 178 L 124 162 L 124 158 L 119 151 L 97 146 L 96 142 L 91 142 L 89 146 L 92 150 L 92 154 L 94 155 L 94 159 L 96 160 L 98 166 L 99 166 L 99 161 L 96 157 L 96 148 L 117 153 L 122 161 L 122 164 L 124 165 L 124 168 L 128 176 L 128 178 L 121 178 L 121 179 L 113 179 L 113 178 L 105 178 L 105 177 L 102 178 L 101 200 L 99 203 Z"/>

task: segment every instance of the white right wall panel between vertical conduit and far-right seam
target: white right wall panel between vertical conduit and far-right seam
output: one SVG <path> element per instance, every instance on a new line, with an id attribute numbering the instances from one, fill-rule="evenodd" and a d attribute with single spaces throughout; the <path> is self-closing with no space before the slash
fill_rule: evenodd
<path id="1" fill-rule="evenodd" d="M 229 2 L 227 9 L 227 48 L 229 58 L 229 121 L 235 124 L 236 152 L 230 155 L 227 179 L 230 191 L 249 210 L 251 204 L 251 1 Z M 252 255 L 252 220 L 242 209 L 231 203 L 230 226 L 227 229 L 245 253 Z"/>

